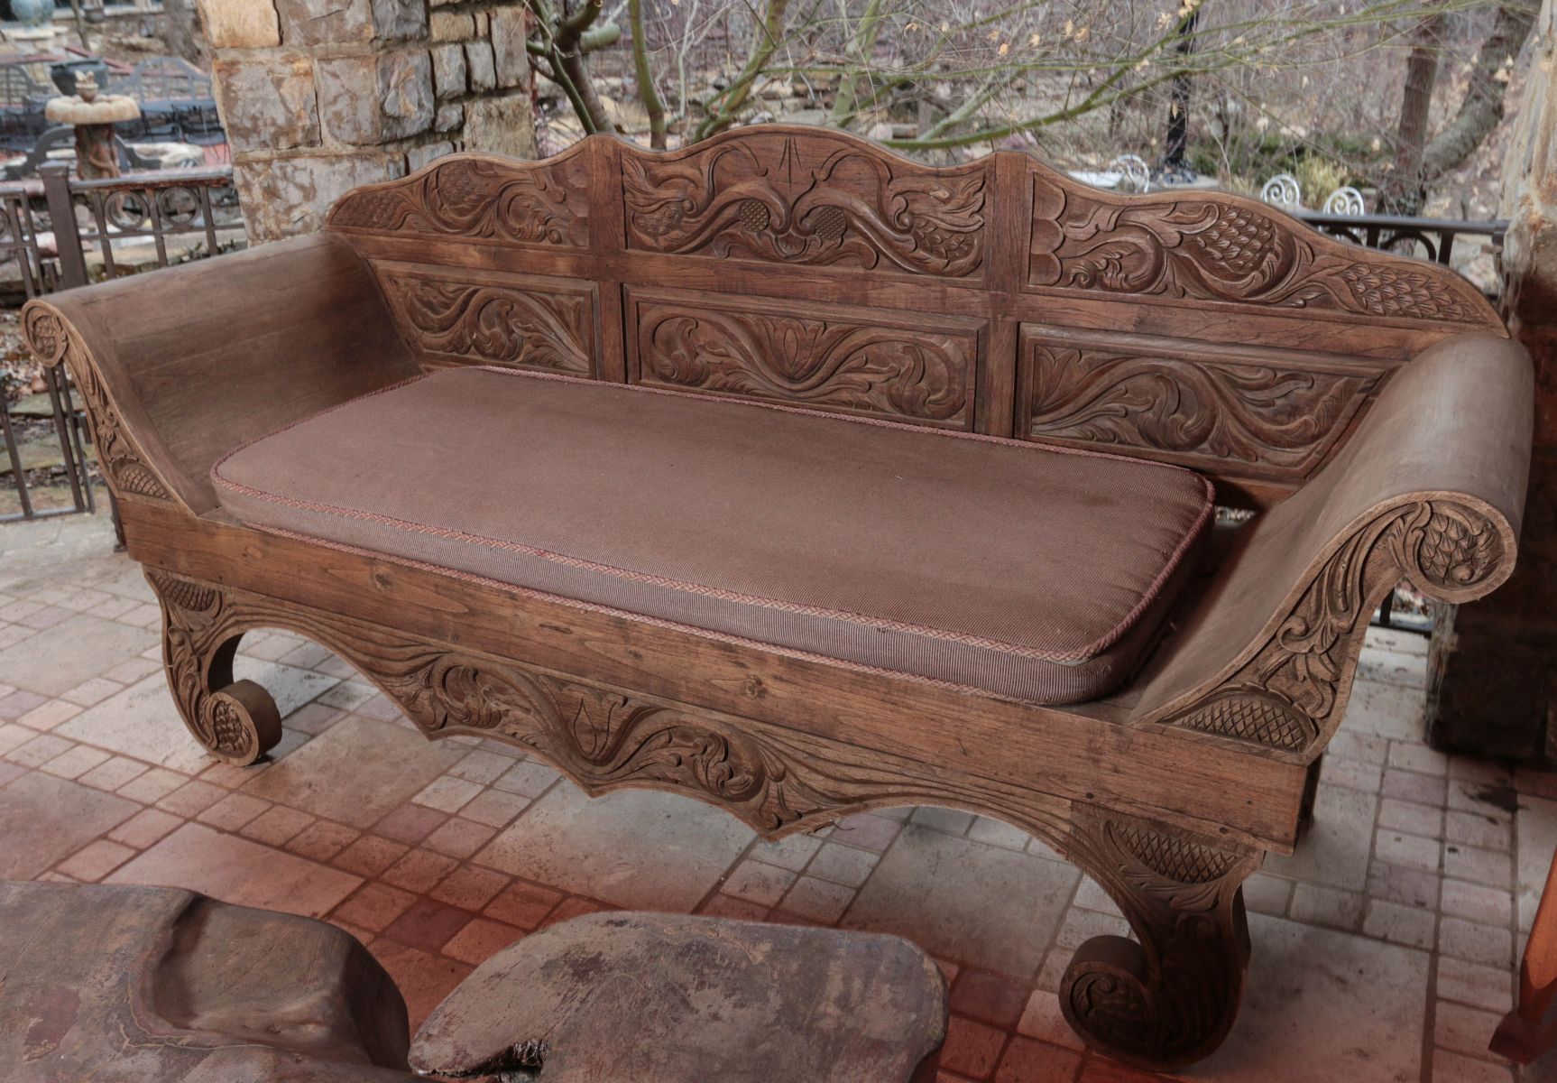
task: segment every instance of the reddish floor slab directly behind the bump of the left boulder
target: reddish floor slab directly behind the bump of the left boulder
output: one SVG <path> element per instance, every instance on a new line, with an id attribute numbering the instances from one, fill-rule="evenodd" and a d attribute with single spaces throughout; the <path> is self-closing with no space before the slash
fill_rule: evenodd
<path id="1" fill-rule="evenodd" d="M 103 882 L 188 888 L 223 902 L 322 918 L 363 880 L 206 824 L 187 823 Z"/>

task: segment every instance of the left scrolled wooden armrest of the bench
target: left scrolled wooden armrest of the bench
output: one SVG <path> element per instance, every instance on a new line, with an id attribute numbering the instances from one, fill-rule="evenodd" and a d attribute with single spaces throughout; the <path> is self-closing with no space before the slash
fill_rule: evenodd
<path id="1" fill-rule="evenodd" d="M 70 369 L 109 486 L 201 514 L 212 464 L 417 372 L 372 271 L 335 235 L 31 301 L 28 346 Z"/>

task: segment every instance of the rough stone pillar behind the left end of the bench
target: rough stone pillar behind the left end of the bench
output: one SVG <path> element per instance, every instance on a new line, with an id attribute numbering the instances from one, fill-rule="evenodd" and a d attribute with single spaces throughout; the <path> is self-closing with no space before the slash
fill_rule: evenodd
<path id="1" fill-rule="evenodd" d="M 534 156 L 526 14 L 506 0 L 199 0 L 251 242 L 456 150 Z"/>

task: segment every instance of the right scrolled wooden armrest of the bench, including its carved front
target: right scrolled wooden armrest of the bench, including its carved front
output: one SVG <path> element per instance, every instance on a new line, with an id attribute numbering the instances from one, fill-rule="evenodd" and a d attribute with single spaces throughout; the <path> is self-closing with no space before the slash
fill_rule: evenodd
<path id="1" fill-rule="evenodd" d="M 1334 461 L 1246 528 L 1132 723 L 1313 762 L 1389 591 L 1470 601 L 1513 570 L 1531 427 L 1517 343 L 1460 335 L 1412 358 Z"/>

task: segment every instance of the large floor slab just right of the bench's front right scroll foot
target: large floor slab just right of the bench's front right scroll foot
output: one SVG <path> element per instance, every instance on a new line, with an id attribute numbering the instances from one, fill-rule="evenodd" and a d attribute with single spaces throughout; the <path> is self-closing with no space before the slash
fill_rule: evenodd
<path id="1" fill-rule="evenodd" d="M 1428 952 L 1263 915 L 1249 932 L 1238 1022 L 1185 1078 L 1418 1083 Z"/>

